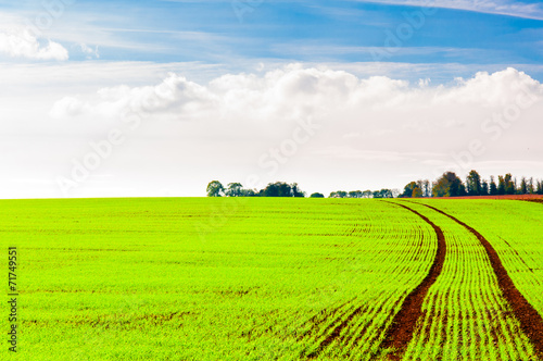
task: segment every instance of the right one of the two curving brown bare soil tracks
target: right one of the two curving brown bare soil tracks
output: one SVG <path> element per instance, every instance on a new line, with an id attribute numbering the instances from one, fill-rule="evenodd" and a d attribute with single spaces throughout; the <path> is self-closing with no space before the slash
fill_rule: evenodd
<path id="1" fill-rule="evenodd" d="M 543 360 L 543 318 L 539 312 L 528 302 L 522 294 L 517 289 L 512 278 L 507 274 L 497 252 L 492 245 L 479 232 L 468 226 L 466 223 L 457 220 L 456 217 L 428 204 L 424 204 L 432 210 L 449 216 L 451 220 L 464 226 L 471 232 L 479 241 L 482 244 L 487 253 L 489 254 L 490 263 L 497 277 L 497 284 L 504 294 L 505 299 L 509 302 L 513 312 L 520 322 L 520 328 L 530 338 L 535 352 L 539 358 Z"/>

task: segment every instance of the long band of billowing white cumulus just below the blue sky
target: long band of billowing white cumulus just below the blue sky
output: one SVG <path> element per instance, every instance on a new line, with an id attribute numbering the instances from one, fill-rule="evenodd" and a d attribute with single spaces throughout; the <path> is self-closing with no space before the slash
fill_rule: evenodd
<path id="1" fill-rule="evenodd" d="M 291 121 L 306 116 L 332 120 L 338 114 L 351 114 L 361 121 L 367 119 L 368 112 L 496 109 L 522 97 L 541 100 L 542 94 L 539 82 L 515 69 L 481 72 L 447 86 L 430 86 L 426 78 L 409 84 L 386 76 L 359 78 L 344 71 L 290 64 L 264 75 L 226 74 L 207 84 L 169 74 L 155 86 L 102 88 L 92 99 L 60 100 L 51 115 Z"/>

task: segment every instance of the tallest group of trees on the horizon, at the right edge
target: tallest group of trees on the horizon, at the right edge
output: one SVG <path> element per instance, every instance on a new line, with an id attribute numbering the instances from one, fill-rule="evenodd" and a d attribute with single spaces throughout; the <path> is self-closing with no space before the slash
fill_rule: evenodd
<path id="1" fill-rule="evenodd" d="M 462 196 L 502 196 L 502 195 L 543 195 L 543 180 L 514 178 L 510 173 L 483 179 L 477 171 L 471 171 L 464 183 L 454 172 L 445 172 L 435 182 L 428 179 L 411 182 L 400 197 L 462 197 Z"/>

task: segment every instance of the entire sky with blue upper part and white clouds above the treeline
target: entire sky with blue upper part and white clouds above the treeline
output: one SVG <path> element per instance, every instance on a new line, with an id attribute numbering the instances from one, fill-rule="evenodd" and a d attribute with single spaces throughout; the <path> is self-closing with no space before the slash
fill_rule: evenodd
<path id="1" fill-rule="evenodd" d="M 0 198 L 543 178 L 543 4 L 0 0 Z"/>

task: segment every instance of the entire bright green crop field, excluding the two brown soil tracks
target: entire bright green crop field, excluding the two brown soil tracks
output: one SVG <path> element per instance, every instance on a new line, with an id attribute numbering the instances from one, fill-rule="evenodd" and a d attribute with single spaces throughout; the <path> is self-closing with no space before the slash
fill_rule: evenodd
<path id="1" fill-rule="evenodd" d="M 2 200 L 21 360 L 386 360 L 387 331 L 446 257 L 404 360 L 538 360 L 473 234 L 543 315 L 543 204 L 516 200 Z M 8 286 L 8 262 L 4 263 Z M 7 289 L 7 288 L 5 288 Z M 5 294 L 8 289 L 5 290 Z M 8 296 L 5 296 L 8 299 Z M 4 303 L 4 302 L 2 302 Z M 0 329 L 8 351 L 9 308 Z M 5 332 L 3 332 L 5 329 Z"/>

